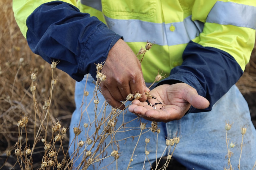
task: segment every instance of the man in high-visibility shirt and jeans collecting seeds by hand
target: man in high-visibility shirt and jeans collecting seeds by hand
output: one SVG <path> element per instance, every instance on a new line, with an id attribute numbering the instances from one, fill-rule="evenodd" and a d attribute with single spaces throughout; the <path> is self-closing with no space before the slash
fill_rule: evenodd
<path id="1" fill-rule="evenodd" d="M 142 97 L 129 106 L 129 111 L 135 115 L 125 114 L 125 121 L 139 116 L 142 122 L 166 122 L 159 124 L 163 132 L 158 139 L 158 151 L 164 152 L 165 136 L 180 133 L 182 138 L 174 157 L 188 169 L 222 169 L 227 165 L 225 120 L 237 125 L 230 132 L 232 139 L 240 134 L 240 125 L 248 126 L 246 134 L 251 139 L 243 148 L 241 165 L 244 169 L 254 165 L 256 155 L 252 150 L 256 132 L 246 101 L 234 84 L 243 74 L 254 46 L 255 6 L 256 3 L 249 0 L 242 3 L 214 0 L 13 1 L 16 21 L 31 50 L 49 63 L 53 59 L 60 60 L 59 69 L 77 81 L 82 80 L 76 83 L 77 109 L 71 126 L 80 122 L 82 111 L 79 108 L 85 85 L 86 90 L 94 91 L 91 80 L 96 80 L 95 64 L 105 61 L 101 72 L 107 79 L 100 85 L 105 100 L 114 108 L 124 109 L 121 101 L 129 93 L 139 92 Z M 134 53 L 147 40 L 155 45 L 145 54 L 140 66 Z M 158 69 L 170 76 L 151 90 L 154 98 L 148 102 L 160 103 L 153 107 L 146 102 L 145 92 L 149 91 L 146 84 L 154 81 Z M 88 73 L 86 84 L 84 75 Z M 99 101 L 103 101 L 102 96 Z M 92 111 L 94 108 L 89 107 L 88 113 Z M 90 119 L 83 117 L 82 121 L 93 121 L 93 114 Z M 93 132 L 91 129 L 88 136 Z M 126 135 L 136 133 L 129 131 Z M 142 138 L 147 135 L 153 138 L 155 134 L 144 134 Z M 85 134 L 78 137 L 86 139 Z M 116 137 L 121 139 L 124 134 Z M 134 149 L 132 141 L 129 138 L 118 143 L 126 146 L 125 150 L 120 150 L 118 162 L 129 161 Z M 155 143 L 151 141 L 147 148 L 153 146 Z M 137 147 L 136 152 L 140 157 L 145 154 L 145 147 Z M 238 162 L 240 148 L 233 153 L 233 161 Z M 144 160 L 138 157 L 132 161 L 134 169 L 143 166 Z M 148 157 L 155 160 L 154 154 Z M 78 159 L 78 164 L 79 161 L 82 159 Z M 101 166 L 108 163 L 103 160 Z M 119 169 L 126 167 L 118 164 Z M 146 163 L 146 168 L 149 167 Z"/>

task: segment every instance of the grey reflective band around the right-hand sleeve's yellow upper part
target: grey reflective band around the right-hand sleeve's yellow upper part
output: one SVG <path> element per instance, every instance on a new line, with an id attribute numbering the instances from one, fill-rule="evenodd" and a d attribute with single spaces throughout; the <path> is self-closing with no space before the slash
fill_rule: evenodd
<path id="1" fill-rule="evenodd" d="M 256 29 L 256 7 L 217 1 L 206 22 Z"/>

